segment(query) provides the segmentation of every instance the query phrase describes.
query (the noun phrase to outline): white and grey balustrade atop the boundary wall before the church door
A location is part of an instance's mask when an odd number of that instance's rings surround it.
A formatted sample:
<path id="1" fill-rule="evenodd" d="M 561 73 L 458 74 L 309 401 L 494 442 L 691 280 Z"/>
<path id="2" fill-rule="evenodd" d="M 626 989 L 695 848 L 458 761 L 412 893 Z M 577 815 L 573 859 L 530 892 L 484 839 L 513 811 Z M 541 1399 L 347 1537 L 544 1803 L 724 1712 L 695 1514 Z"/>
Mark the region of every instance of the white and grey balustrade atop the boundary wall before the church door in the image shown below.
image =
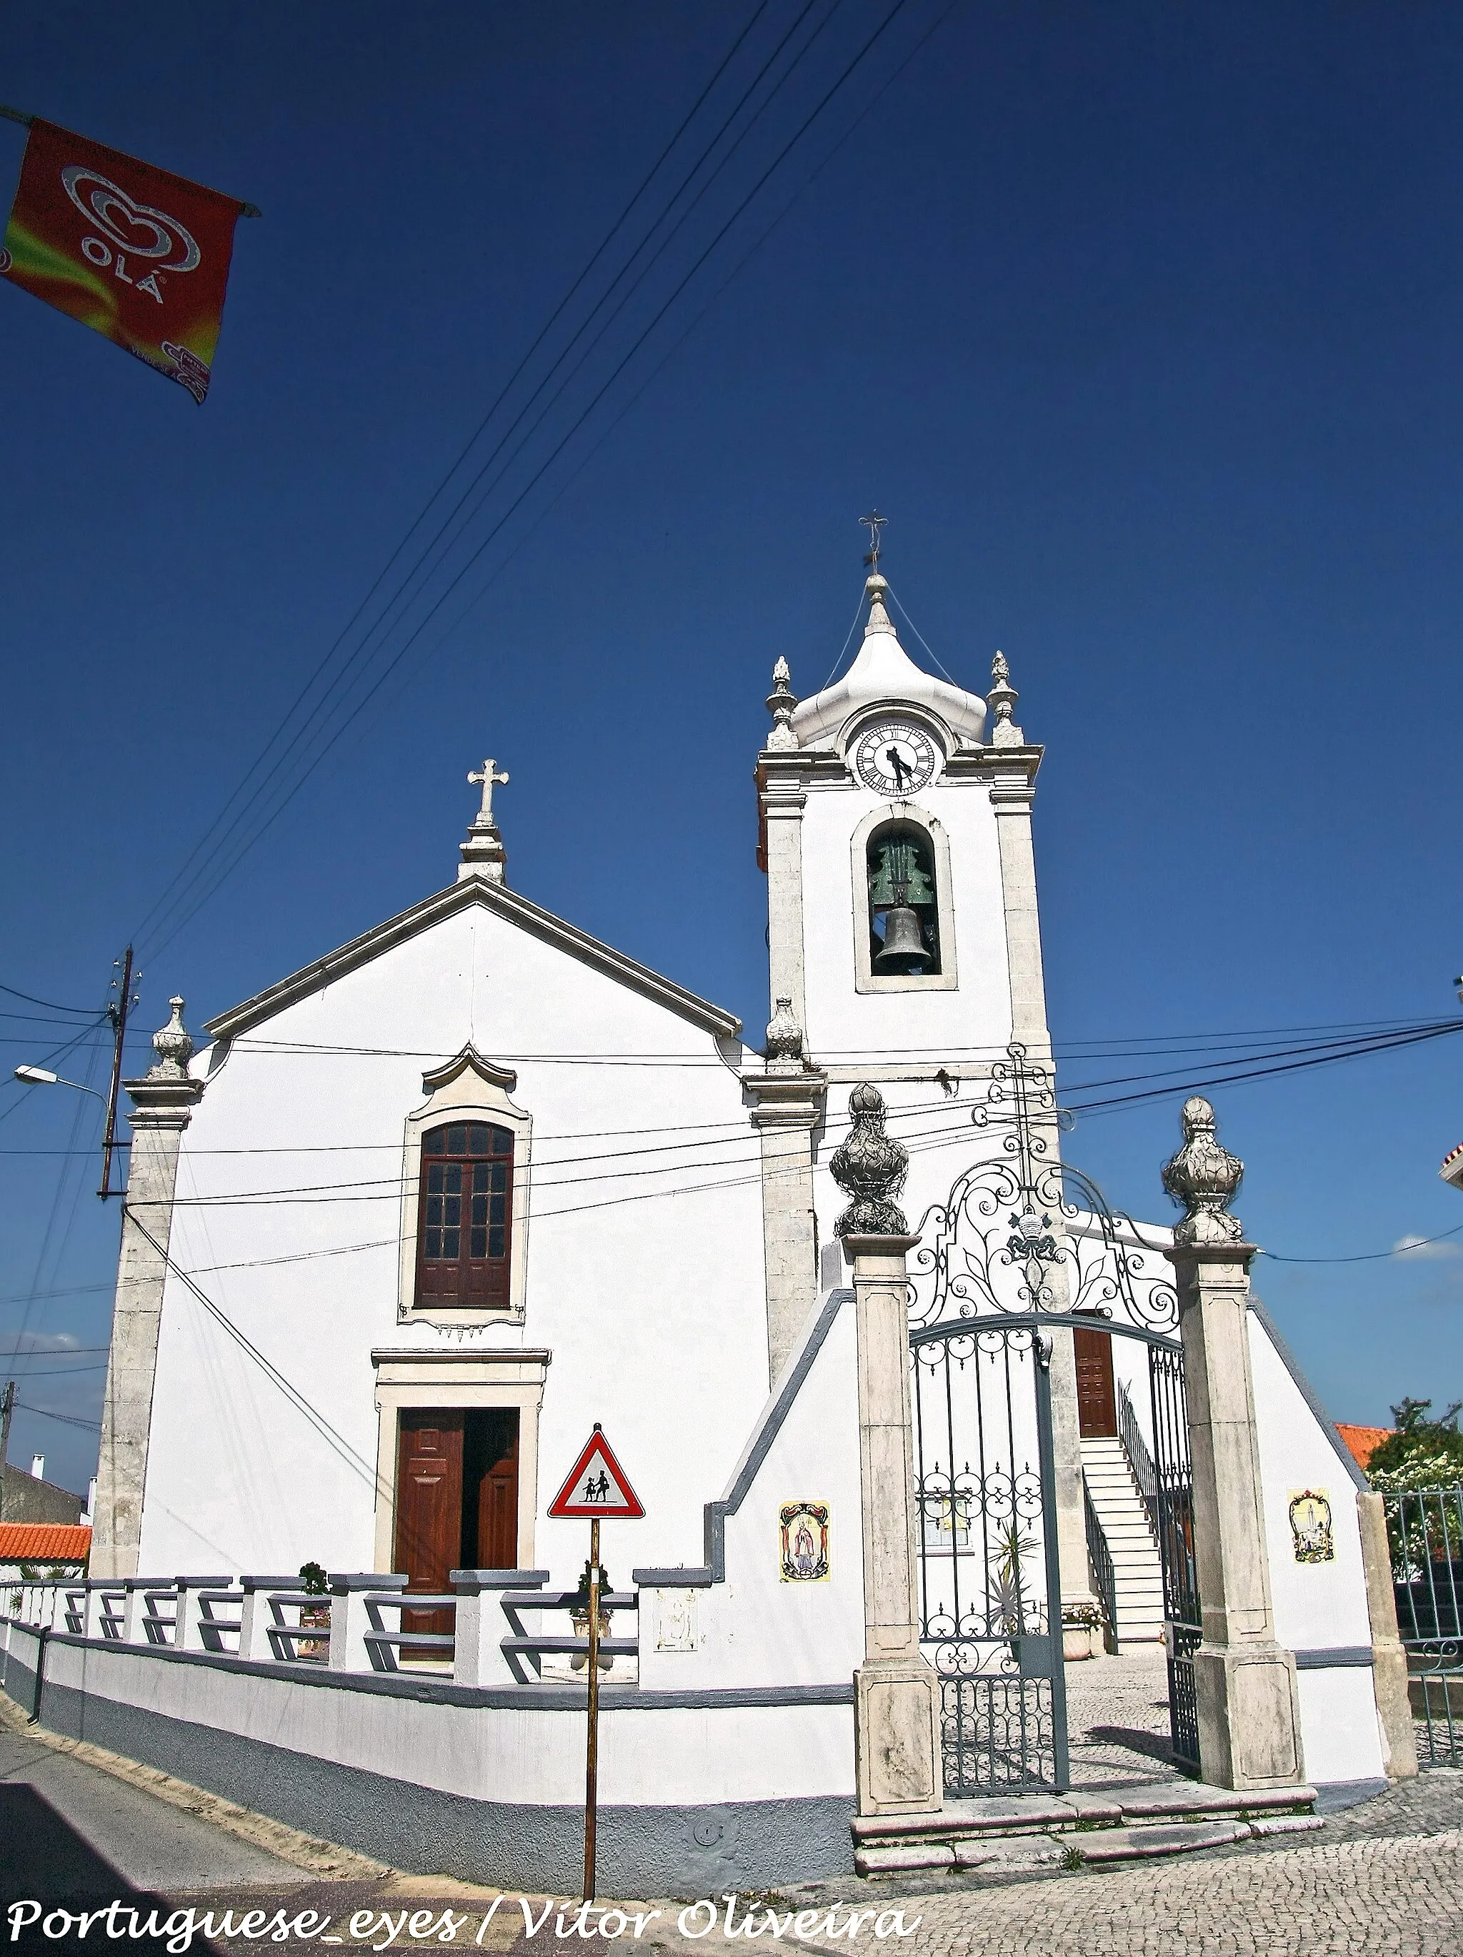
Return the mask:
<path id="1" fill-rule="evenodd" d="M 14 1585 L 0 1603 L 31 1628 L 143 1650 L 331 1671 L 428 1669 L 458 1685 L 583 1683 L 587 1626 L 565 1634 L 552 1615 L 583 1620 L 587 1599 L 546 1589 L 548 1577 L 548 1570 L 454 1570 L 452 1589 L 430 1595 L 379 1571 L 331 1575 L 329 1595 L 288 1575 L 82 1577 Z M 636 1613 L 638 1624 L 640 1593 L 606 1591 L 600 1611 Z M 600 1634 L 600 1667 L 632 1683 L 640 1636 L 616 1628 Z"/>

